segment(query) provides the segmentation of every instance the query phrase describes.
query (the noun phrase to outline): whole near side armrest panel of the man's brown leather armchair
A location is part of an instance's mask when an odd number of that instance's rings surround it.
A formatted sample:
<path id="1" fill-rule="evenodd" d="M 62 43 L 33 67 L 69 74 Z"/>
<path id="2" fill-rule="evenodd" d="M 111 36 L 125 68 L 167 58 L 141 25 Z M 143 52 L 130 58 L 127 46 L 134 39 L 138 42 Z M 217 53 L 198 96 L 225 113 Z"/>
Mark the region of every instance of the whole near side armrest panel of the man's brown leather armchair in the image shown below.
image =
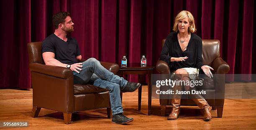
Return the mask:
<path id="1" fill-rule="evenodd" d="M 70 69 L 41 63 L 29 64 L 33 106 L 60 112 L 74 110 L 74 80 Z"/>

